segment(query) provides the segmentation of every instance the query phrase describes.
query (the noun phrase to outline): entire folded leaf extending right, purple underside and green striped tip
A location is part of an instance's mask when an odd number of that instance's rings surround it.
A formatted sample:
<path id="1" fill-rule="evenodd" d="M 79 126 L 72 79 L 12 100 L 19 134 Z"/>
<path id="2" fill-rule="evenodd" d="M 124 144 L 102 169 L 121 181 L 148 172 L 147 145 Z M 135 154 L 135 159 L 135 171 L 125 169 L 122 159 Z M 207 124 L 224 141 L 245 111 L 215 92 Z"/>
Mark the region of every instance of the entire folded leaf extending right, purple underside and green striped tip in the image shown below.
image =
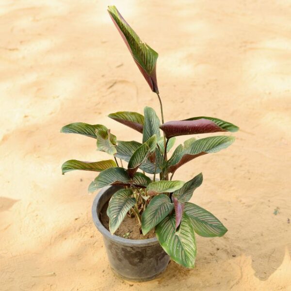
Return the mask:
<path id="1" fill-rule="evenodd" d="M 193 117 L 185 120 L 168 121 L 160 126 L 166 138 L 178 135 L 237 131 L 239 128 L 229 122 L 212 117 Z"/>

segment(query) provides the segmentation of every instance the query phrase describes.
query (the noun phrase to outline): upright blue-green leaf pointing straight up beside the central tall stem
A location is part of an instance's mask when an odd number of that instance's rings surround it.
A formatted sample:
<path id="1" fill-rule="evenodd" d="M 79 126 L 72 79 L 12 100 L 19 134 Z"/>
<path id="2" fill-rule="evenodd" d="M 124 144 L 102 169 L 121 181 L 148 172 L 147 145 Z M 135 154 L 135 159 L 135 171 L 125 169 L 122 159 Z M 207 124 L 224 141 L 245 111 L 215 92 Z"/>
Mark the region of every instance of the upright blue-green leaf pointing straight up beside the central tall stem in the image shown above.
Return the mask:
<path id="1" fill-rule="evenodd" d="M 157 140 L 160 138 L 160 119 L 157 116 L 156 112 L 151 107 L 145 107 L 145 124 L 143 132 L 143 143 L 145 143 L 153 135 L 157 136 Z"/>

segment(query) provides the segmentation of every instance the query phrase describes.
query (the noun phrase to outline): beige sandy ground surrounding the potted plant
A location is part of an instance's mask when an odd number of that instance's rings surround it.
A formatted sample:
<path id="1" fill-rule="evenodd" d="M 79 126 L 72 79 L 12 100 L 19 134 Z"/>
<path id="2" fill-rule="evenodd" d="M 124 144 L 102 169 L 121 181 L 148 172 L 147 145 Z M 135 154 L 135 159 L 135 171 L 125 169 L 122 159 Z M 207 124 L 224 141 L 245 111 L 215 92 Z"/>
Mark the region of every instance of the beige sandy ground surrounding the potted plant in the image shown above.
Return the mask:
<path id="1" fill-rule="evenodd" d="M 192 201 L 228 232 L 197 236 L 194 270 L 171 262 L 147 283 L 111 272 L 87 194 L 96 175 L 60 170 L 107 157 L 92 139 L 59 133 L 63 125 L 101 123 L 140 139 L 106 115 L 159 110 L 108 4 L 160 53 L 166 120 L 241 127 L 233 146 L 175 174 L 203 172 Z M 1 0 L 0 35 L 1 291 L 291 290 L 290 0 Z"/>

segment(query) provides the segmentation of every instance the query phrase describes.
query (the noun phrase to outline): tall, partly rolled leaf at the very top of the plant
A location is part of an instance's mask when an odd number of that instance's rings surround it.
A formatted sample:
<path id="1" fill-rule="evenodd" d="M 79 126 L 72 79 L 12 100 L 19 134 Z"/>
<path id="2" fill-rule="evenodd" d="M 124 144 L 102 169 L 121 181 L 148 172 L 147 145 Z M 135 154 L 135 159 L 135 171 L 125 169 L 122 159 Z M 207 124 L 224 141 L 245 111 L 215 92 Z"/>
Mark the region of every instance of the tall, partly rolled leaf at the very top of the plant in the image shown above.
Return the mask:
<path id="1" fill-rule="evenodd" d="M 149 87 L 159 93 L 156 77 L 158 53 L 139 38 L 115 6 L 108 6 L 108 12 Z"/>

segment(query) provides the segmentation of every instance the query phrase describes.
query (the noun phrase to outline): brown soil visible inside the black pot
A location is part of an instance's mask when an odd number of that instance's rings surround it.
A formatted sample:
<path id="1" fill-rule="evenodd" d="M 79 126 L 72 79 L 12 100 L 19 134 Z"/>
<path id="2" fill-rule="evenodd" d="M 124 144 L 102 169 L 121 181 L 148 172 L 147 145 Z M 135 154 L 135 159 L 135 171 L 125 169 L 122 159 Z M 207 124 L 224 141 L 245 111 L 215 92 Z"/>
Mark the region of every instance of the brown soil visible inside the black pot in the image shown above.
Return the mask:
<path id="1" fill-rule="evenodd" d="M 106 214 L 107 208 L 108 208 L 108 202 L 104 204 L 100 212 L 99 219 L 101 223 L 103 224 L 103 226 L 105 226 L 105 228 L 109 230 L 109 217 Z M 117 228 L 114 234 L 119 237 L 130 239 L 130 240 L 145 240 L 145 239 L 150 239 L 156 236 L 155 229 L 152 229 L 144 236 L 140 232 L 140 226 L 136 218 L 129 217 L 129 215 L 126 215 L 123 222 Z"/>

